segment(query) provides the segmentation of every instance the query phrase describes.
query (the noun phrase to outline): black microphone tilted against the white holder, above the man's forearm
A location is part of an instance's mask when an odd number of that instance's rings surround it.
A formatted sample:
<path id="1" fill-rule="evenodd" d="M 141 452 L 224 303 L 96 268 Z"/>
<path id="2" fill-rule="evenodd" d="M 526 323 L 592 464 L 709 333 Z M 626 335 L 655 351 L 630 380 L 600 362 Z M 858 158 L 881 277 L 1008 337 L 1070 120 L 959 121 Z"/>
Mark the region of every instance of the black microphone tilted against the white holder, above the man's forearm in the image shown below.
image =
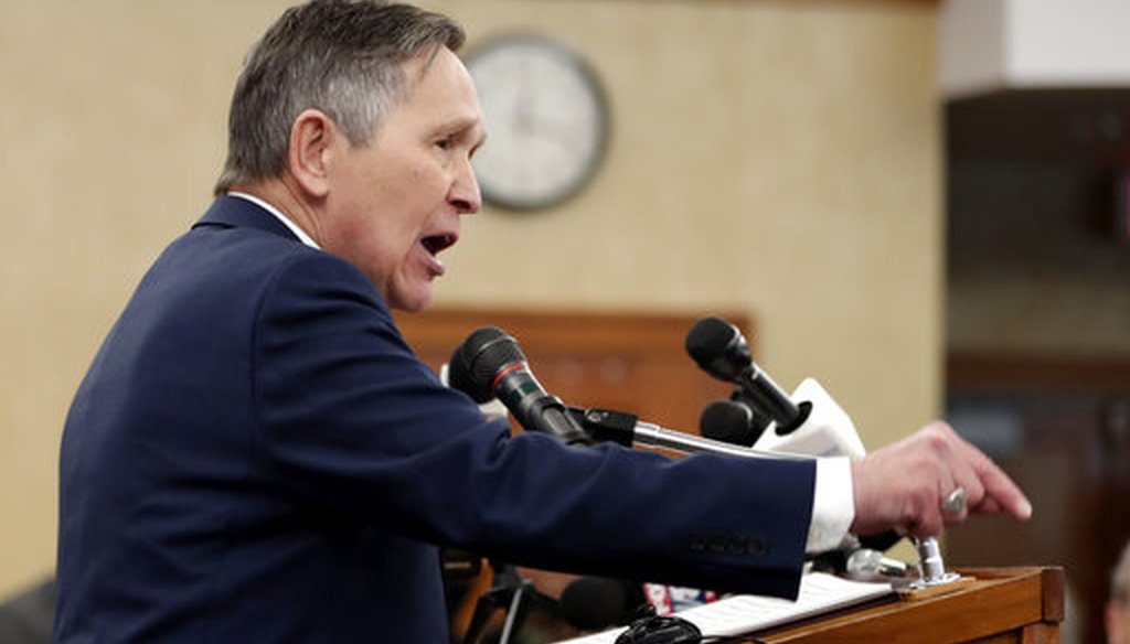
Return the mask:
<path id="1" fill-rule="evenodd" d="M 737 327 L 715 316 L 690 328 L 687 353 L 710 375 L 736 383 L 762 412 L 776 421 L 777 434 L 800 427 L 807 409 L 798 407 L 753 360 L 749 343 Z"/>

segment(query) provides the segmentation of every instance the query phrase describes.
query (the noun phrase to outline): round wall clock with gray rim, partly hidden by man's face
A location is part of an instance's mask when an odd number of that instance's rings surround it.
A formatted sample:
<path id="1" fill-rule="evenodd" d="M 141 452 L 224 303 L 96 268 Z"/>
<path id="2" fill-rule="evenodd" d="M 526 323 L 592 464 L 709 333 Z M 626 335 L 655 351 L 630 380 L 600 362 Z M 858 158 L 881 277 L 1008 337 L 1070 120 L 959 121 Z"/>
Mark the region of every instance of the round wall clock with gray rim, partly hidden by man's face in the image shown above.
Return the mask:
<path id="1" fill-rule="evenodd" d="M 467 55 L 487 142 L 475 156 L 483 198 L 547 208 L 592 179 L 605 157 L 608 106 L 591 69 L 560 43 L 507 36 Z"/>

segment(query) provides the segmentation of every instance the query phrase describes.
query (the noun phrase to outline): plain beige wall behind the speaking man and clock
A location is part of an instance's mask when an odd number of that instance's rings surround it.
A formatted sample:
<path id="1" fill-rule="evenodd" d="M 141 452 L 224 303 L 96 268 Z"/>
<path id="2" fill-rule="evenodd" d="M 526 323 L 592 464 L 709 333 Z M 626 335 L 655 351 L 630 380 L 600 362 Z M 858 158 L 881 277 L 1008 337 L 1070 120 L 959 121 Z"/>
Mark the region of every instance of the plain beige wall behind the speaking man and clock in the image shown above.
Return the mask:
<path id="1" fill-rule="evenodd" d="M 275 0 L 0 0 L 0 595 L 52 568 L 67 404 L 149 261 L 209 201 Z M 596 184 L 464 225 L 442 304 L 748 311 L 785 386 L 870 445 L 940 406 L 936 8 L 447 0 L 471 43 L 556 35 L 610 88 Z M 501 260 L 505 258 L 505 263 Z"/>

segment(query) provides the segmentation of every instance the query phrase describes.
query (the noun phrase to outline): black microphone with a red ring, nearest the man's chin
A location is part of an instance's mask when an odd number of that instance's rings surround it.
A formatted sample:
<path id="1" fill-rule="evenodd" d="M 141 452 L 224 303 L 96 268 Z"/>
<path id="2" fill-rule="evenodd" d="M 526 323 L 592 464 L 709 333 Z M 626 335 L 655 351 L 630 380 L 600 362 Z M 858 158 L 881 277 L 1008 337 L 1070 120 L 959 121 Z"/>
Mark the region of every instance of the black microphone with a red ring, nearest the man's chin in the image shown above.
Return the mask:
<path id="1" fill-rule="evenodd" d="M 475 330 L 451 356 L 451 386 L 475 402 L 498 398 L 518 423 L 532 432 L 549 434 L 567 445 L 588 443 L 560 399 L 549 395 L 533 377 L 518 341 L 497 327 Z"/>

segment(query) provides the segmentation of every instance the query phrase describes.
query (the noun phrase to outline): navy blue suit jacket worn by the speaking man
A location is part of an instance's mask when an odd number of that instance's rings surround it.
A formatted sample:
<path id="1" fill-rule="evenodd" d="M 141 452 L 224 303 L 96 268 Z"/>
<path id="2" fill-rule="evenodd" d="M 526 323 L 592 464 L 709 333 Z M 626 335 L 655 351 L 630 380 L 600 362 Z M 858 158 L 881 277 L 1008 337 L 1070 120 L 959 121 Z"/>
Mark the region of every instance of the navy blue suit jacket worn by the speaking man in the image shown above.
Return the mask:
<path id="1" fill-rule="evenodd" d="M 359 270 L 233 197 L 138 286 L 60 470 L 67 644 L 438 644 L 438 546 L 788 597 L 815 478 L 512 437 L 412 355 Z"/>

